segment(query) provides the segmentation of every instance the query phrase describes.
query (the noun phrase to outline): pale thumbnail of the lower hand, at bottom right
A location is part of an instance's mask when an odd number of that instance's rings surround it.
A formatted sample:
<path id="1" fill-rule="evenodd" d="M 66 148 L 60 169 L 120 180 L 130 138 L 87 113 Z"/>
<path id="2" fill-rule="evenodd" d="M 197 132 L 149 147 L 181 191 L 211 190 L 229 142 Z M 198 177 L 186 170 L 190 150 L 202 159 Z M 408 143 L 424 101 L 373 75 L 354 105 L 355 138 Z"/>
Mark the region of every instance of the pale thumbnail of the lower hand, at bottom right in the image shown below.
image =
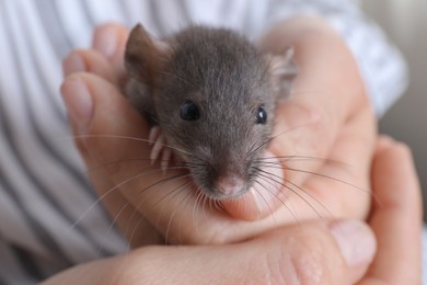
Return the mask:
<path id="1" fill-rule="evenodd" d="M 348 266 L 369 264 L 372 261 L 377 241 L 362 221 L 336 221 L 330 225 L 330 230 Z"/>

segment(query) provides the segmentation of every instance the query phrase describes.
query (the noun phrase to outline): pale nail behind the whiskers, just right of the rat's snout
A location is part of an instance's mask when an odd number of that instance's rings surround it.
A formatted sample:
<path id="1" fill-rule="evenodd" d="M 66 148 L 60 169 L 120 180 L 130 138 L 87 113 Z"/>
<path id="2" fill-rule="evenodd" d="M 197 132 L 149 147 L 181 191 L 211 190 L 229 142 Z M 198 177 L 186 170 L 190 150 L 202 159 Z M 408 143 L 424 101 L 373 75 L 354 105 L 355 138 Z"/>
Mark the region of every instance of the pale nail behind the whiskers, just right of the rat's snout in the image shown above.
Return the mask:
<path id="1" fill-rule="evenodd" d="M 282 201 L 284 171 L 279 159 L 269 151 L 265 151 L 261 160 L 263 161 L 262 173 L 250 193 L 253 195 L 258 213 L 265 213 L 275 208 L 273 204 L 277 201 Z"/>

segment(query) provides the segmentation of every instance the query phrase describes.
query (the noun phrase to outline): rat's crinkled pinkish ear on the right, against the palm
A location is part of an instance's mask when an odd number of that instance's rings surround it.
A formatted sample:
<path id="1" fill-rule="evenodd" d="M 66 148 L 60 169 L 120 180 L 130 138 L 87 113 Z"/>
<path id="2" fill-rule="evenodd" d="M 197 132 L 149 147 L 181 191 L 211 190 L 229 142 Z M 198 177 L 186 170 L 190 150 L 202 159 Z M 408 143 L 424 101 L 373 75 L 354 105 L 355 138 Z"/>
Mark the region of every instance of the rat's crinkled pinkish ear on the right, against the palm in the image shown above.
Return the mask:
<path id="1" fill-rule="evenodd" d="M 268 54 L 265 57 L 274 87 L 280 93 L 287 95 L 292 79 L 298 73 L 297 65 L 293 60 L 293 47 L 288 47 L 281 55 Z"/>

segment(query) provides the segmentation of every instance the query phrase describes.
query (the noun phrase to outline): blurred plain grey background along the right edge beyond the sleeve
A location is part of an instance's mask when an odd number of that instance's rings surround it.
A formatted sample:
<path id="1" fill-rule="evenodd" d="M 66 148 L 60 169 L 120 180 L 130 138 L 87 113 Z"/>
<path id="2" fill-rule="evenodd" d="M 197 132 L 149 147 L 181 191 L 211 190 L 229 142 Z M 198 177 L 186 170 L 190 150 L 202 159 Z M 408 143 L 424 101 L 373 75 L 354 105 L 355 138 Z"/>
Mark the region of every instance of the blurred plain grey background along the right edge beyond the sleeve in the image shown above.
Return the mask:
<path id="1" fill-rule="evenodd" d="M 409 67 L 409 87 L 381 118 L 380 132 L 412 148 L 424 190 L 424 205 L 427 205 L 427 1 L 361 2 L 367 14 L 382 26 L 402 50 Z M 424 220 L 427 220 L 427 213 Z"/>

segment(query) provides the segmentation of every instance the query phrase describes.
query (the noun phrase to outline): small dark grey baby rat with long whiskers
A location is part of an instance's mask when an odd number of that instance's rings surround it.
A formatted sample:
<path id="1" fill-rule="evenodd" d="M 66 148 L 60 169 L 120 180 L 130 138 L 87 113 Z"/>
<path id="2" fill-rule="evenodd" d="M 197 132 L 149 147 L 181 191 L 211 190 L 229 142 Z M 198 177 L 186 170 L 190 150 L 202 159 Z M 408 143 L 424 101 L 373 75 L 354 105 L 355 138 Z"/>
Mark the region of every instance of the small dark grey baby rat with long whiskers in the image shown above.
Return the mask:
<path id="1" fill-rule="evenodd" d="M 212 200 L 253 186 L 276 106 L 297 75 L 292 48 L 263 54 L 234 31 L 201 25 L 160 39 L 137 24 L 125 66 L 125 93 L 151 125 L 152 160 L 163 152 L 163 168 L 183 161 Z"/>

